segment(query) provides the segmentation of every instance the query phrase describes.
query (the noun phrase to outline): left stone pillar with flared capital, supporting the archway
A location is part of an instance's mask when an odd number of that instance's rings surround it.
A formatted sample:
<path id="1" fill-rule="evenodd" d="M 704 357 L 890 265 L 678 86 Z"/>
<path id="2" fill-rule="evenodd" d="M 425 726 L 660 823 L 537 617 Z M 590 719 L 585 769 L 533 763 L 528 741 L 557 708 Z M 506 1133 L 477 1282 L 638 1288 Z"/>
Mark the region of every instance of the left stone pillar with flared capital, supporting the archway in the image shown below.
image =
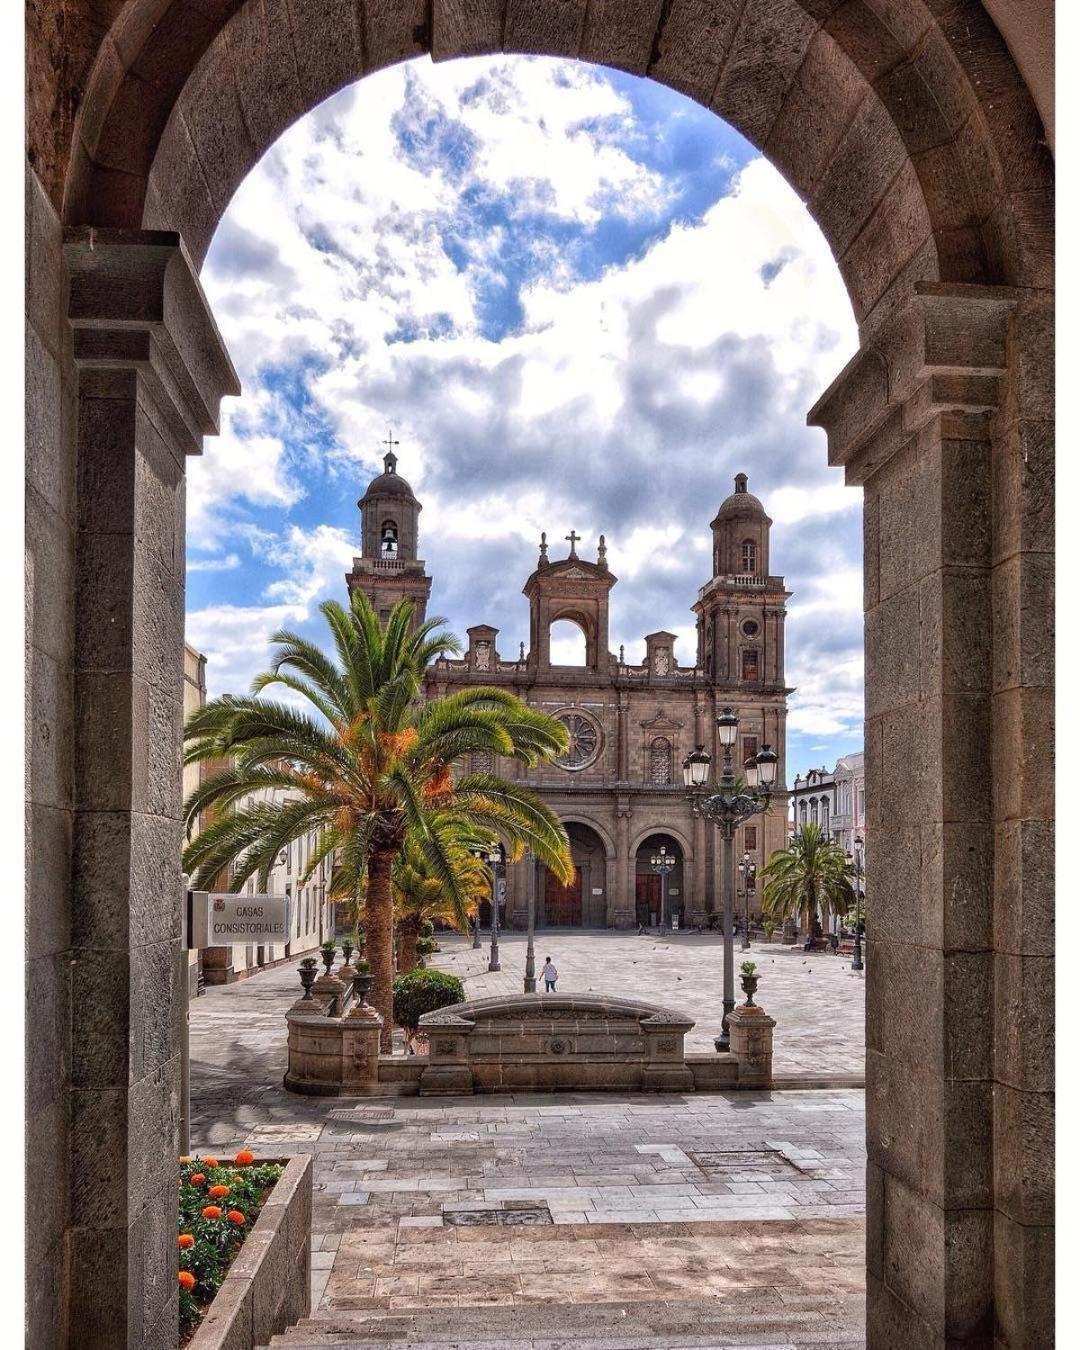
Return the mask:
<path id="1" fill-rule="evenodd" d="M 176 1345 L 184 460 L 239 393 L 180 236 L 65 236 L 78 371 L 70 1324 Z"/>

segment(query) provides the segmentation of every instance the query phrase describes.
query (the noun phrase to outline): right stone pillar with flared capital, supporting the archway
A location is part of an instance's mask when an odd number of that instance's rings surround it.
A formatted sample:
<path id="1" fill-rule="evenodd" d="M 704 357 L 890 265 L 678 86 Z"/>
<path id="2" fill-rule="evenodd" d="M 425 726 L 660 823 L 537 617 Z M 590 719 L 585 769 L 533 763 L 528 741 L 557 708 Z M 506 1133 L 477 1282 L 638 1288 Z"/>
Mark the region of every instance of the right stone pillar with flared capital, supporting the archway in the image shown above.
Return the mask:
<path id="1" fill-rule="evenodd" d="M 1014 298 L 923 285 L 810 414 L 829 433 L 830 462 L 864 487 L 872 1347 L 1000 1334 L 995 1223 L 1011 1222 L 1013 1179 L 1045 1174 L 1052 1158 L 1026 1152 L 1041 1122 L 1027 1134 L 1026 1103 L 1013 1118 L 1019 1099 L 994 1081 L 1004 1069 L 1041 1096 L 1052 1066 L 1049 980 L 1022 988 L 1013 957 L 994 952 L 995 873 L 1008 909 L 1021 886 L 1013 864 L 1031 882 L 1038 865 L 1010 852 L 1010 825 L 1030 805 L 1041 814 L 1053 782 L 1049 756 L 1031 755 L 1046 705 L 994 694 L 1027 617 L 1022 601 L 998 605 L 992 585 L 994 466 L 1007 455 L 992 417 Z M 1021 1008 L 1030 1018 L 1015 1019 Z M 995 1154 L 1011 1160 L 996 1183 Z M 999 1284 L 1023 1281 L 1017 1272 L 1040 1250 L 1037 1237 L 1030 1249 L 1017 1239 Z M 1029 1327 L 1008 1343 L 1046 1342 Z"/>

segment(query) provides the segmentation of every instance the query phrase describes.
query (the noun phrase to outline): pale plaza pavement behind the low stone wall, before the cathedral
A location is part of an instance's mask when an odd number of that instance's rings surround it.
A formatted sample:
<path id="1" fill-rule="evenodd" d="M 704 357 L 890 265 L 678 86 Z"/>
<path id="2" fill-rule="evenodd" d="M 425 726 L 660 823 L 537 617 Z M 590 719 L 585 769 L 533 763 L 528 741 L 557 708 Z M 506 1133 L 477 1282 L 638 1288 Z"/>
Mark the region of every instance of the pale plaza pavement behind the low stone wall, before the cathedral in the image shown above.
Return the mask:
<path id="1" fill-rule="evenodd" d="M 487 969 L 489 934 L 474 950 L 467 938 L 439 934 L 443 948 L 432 965 L 460 975 L 466 998 L 520 994 L 525 972 L 525 938 L 500 936 L 500 965 Z M 687 1050 L 711 1050 L 722 1017 L 722 940 L 711 933 L 634 933 L 547 930 L 536 938 L 536 971 L 551 956 L 559 971 L 559 992 L 621 994 L 659 1003 L 694 1018 Z M 755 942 L 738 950 L 736 938 L 736 998 L 741 1000 L 738 964 L 755 961 L 761 977 L 756 1002 L 776 1019 L 774 1071 L 779 1075 L 863 1076 L 864 981 L 846 956 L 807 954 L 779 944 Z M 543 983 L 540 984 L 543 990 Z"/>

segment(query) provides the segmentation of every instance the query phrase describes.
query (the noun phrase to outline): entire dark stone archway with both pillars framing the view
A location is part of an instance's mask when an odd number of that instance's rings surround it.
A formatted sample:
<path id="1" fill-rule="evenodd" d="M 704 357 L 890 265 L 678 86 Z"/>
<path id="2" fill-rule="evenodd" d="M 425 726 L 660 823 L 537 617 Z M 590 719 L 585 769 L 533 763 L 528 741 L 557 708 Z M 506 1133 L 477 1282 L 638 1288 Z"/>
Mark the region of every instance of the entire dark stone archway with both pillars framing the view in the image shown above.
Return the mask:
<path id="1" fill-rule="evenodd" d="M 31 756 L 28 871 L 35 1025 L 51 1030 L 28 1061 L 45 1061 L 28 1143 L 72 1160 L 70 1180 L 28 1184 L 34 1343 L 70 1324 L 84 1345 L 150 1346 L 174 1318 L 184 456 L 236 387 L 197 266 L 235 186 L 320 99 L 425 51 L 497 50 L 620 66 L 713 108 L 834 251 L 863 346 L 811 420 L 865 494 L 868 1331 L 1046 1343 L 1052 163 L 986 9 L 93 14 L 111 27 L 65 7 L 70 54 L 31 82 L 27 684 L 50 736 Z M 65 243 L 61 221 L 82 228 Z M 127 1204 L 103 1211 L 89 1177 Z"/>

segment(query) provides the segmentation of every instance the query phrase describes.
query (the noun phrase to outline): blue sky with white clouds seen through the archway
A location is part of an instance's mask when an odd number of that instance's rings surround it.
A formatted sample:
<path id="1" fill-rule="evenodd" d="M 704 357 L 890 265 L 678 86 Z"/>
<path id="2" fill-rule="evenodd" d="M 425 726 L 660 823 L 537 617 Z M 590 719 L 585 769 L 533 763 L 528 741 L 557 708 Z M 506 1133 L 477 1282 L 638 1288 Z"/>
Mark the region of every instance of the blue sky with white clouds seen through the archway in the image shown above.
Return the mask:
<path id="1" fill-rule="evenodd" d="M 690 664 L 709 520 L 748 473 L 794 591 L 790 774 L 860 745 L 861 493 L 805 425 L 855 323 L 796 196 L 716 116 L 548 58 L 394 66 L 277 142 L 202 279 L 244 389 L 190 468 L 212 693 L 279 624 L 321 636 L 392 425 L 432 609 L 506 656 L 540 531 L 572 526 L 585 556 L 608 539 L 613 648 L 668 628 Z"/>

